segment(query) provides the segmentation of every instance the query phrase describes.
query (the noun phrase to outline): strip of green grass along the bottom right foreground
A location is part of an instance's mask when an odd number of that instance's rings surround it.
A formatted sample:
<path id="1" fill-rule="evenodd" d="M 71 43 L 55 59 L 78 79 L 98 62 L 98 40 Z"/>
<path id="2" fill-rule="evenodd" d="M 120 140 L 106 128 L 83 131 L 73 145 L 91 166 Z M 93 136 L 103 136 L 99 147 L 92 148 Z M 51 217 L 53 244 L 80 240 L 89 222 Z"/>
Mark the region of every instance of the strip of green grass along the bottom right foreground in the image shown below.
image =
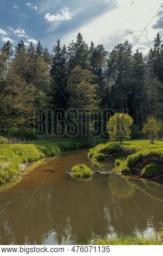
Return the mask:
<path id="1" fill-rule="evenodd" d="M 91 245 L 163 245 L 162 237 L 155 235 L 151 238 L 120 235 L 106 239 L 97 239 Z"/>

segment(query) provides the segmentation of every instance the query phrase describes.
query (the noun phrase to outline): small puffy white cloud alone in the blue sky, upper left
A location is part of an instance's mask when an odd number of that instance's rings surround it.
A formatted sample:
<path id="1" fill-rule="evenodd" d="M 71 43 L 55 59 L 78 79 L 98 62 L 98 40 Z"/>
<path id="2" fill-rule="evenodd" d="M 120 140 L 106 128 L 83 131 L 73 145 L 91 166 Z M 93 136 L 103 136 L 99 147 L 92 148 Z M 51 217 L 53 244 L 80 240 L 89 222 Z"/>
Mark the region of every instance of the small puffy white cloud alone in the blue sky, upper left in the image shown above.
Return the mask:
<path id="1" fill-rule="evenodd" d="M 69 9 L 65 7 L 64 9 L 61 10 L 60 14 L 51 15 L 47 13 L 45 15 L 45 19 L 47 21 L 64 21 L 64 20 L 71 20 L 72 17 L 70 15 Z"/>

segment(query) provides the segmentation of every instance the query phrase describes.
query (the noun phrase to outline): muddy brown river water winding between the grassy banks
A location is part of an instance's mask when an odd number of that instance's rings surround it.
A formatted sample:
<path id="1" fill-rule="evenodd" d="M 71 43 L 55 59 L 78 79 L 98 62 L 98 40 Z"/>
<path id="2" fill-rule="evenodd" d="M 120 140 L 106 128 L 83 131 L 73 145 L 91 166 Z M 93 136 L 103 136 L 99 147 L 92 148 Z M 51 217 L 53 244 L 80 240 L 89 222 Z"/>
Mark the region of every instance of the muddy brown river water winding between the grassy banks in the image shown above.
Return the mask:
<path id="1" fill-rule="evenodd" d="M 121 233 L 152 236 L 160 229 L 163 186 L 115 174 L 72 180 L 65 172 L 78 163 L 112 170 L 112 163 L 91 162 L 87 151 L 34 162 L 0 187 L 1 244 L 81 244 Z"/>

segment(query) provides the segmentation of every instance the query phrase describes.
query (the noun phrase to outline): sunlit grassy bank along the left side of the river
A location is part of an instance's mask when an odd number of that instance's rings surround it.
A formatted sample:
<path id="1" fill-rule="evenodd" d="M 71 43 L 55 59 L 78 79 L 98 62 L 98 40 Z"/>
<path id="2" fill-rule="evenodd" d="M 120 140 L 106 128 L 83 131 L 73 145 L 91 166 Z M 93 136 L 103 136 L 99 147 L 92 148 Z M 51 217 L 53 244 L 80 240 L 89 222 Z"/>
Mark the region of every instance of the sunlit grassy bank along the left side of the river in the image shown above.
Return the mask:
<path id="1" fill-rule="evenodd" d="M 57 156 L 62 150 L 79 149 L 86 145 L 86 141 L 77 139 L 42 139 L 26 144 L 0 145 L 0 184 L 20 175 L 23 163 Z"/>

